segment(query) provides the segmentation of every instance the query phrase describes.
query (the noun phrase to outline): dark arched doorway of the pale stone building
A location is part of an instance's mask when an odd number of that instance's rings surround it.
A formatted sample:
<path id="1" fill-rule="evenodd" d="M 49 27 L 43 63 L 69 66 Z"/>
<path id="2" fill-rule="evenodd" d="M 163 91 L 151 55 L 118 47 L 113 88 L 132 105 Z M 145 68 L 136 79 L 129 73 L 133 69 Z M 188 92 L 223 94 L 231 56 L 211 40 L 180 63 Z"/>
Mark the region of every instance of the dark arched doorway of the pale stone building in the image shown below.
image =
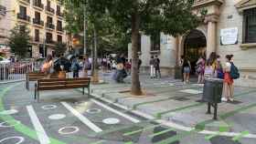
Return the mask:
<path id="1" fill-rule="evenodd" d="M 192 74 L 195 74 L 195 67 L 197 59 L 200 56 L 206 55 L 207 38 L 199 30 L 191 30 L 184 41 L 184 56 L 187 57 L 191 63 Z"/>

